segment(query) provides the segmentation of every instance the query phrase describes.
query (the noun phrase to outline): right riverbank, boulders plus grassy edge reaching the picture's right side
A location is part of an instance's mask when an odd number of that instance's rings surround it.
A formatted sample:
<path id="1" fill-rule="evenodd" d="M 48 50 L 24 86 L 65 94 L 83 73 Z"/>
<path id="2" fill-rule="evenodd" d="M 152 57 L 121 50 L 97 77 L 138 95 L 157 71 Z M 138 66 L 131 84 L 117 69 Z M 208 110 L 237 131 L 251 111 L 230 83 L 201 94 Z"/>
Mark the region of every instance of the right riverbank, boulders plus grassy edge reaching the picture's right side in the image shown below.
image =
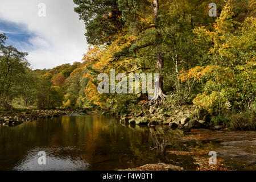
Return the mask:
<path id="1" fill-rule="evenodd" d="M 253 111 L 230 115 L 212 115 L 205 109 L 193 105 L 165 105 L 143 107 L 142 111 L 134 111 L 120 116 L 120 123 L 125 125 L 168 126 L 171 129 L 191 131 L 191 129 L 211 130 L 255 130 L 256 116 Z"/>

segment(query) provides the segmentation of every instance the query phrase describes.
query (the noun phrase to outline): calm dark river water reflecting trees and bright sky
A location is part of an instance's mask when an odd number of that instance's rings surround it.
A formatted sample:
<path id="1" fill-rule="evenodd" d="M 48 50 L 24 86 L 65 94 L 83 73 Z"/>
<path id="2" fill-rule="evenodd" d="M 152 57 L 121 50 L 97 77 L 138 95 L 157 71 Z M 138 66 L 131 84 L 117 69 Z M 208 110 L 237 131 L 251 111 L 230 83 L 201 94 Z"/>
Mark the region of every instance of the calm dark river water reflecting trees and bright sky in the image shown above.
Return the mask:
<path id="1" fill-rule="evenodd" d="M 0 170 L 113 170 L 160 162 L 195 168 L 190 157 L 165 152 L 182 146 L 164 136 L 160 127 L 123 126 L 101 115 L 0 126 Z M 39 151 L 46 152 L 46 165 L 38 164 Z"/>

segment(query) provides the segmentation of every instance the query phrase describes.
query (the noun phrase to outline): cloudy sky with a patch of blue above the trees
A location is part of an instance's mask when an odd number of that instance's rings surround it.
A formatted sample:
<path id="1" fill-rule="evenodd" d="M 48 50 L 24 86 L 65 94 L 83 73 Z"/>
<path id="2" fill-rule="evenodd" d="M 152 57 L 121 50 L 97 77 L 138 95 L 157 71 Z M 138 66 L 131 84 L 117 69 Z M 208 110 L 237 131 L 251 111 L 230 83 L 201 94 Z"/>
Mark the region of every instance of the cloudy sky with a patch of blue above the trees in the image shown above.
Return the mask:
<path id="1" fill-rule="evenodd" d="M 88 44 L 73 0 L 0 0 L 0 4 L 0 33 L 7 35 L 7 45 L 28 52 L 32 69 L 81 61 Z"/>

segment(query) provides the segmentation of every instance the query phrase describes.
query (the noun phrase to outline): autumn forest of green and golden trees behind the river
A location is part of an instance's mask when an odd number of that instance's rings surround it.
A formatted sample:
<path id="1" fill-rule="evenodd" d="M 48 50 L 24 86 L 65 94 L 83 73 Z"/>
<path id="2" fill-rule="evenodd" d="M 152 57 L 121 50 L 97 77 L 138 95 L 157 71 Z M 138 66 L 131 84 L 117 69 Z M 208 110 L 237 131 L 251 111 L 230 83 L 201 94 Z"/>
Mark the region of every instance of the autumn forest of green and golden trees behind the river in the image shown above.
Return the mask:
<path id="1" fill-rule="evenodd" d="M 189 119 L 205 111 L 211 125 L 255 130 L 255 0 L 74 2 L 90 46 L 72 65 L 32 70 L 28 53 L 6 46 L 0 34 L 2 111 L 84 109 L 131 118 L 149 112 L 159 121 L 186 107 Z M 110 69 L 159 73 L 158 97 L 99 93 L 97 77 Z"/>

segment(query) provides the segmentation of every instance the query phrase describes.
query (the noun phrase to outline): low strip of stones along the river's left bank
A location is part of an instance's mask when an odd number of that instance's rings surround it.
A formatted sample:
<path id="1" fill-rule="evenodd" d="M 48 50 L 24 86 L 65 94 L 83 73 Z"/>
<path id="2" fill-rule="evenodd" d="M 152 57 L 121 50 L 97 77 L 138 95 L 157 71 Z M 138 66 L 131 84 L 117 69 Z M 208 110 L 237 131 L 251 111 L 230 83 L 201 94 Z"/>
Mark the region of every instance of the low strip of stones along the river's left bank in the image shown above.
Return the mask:
<path id="1" fill-rule="evenodd" d="M 34 121 L 42 118 L 54 118 L 61 115 L 77 113 L 76 110 L 27 110 L 27 111 L 3 111 L 0 113 L 0 124 L 16 126 L 27 121 Z"/>

